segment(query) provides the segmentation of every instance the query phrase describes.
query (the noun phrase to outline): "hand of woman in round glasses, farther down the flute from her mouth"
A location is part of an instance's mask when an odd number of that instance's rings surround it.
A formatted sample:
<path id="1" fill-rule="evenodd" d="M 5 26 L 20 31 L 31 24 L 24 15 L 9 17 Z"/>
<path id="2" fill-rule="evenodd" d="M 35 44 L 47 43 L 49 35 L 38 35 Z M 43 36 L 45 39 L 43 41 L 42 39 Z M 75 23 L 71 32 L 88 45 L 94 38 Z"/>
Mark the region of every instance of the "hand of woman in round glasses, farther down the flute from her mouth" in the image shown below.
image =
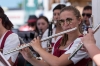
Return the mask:
<path id="1" fill-rule="evenodd" d="M 33 54 L 29 48 L 24 48 L 24 49 L 20 50 L 20 53 L 26 60 L 30 60 L 33 57 Z"/>

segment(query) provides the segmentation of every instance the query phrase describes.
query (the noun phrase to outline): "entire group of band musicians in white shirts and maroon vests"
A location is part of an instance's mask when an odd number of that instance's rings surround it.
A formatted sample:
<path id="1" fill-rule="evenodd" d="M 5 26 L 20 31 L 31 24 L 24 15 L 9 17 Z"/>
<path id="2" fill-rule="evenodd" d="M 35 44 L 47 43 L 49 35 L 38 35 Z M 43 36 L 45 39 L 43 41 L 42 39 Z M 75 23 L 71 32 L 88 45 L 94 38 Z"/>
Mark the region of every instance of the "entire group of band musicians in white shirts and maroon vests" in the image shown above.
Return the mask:
<path id="1" fill-rule="evenodd" d="M 54 7 L 52 23 L 49 22 L 48 18 L 45 16 L 36 17 L 31 15 L 28 19 L 27 26 L 28 31 L 35 32 L 35 36 L 30 41 L 30 45 L 31 48 L 39 54 L 41 59 L 37 59 L 28 47 L 4 55 L 4 57 L 12 66 L 17 66 L 16 60 L 19 52 L 22 54 L 23 58 L 33 66 L 92 66 L 92 64 L 90 64 L 92 61 L 99 66 L 100 50 L 96 46 L 96 40 L 93 35 L 94 32 L 89 28 L 91 25 L 89 21 L 91 15 L 91 6 L 85 6 L 81 15 L 77 8 L 64 4 L 58 4 Z M 52 27 L 52 25 L 54 25 L 54 27 Z M 40 41 L 45 37 L 74 27 L 77 29 L 56 36 L 50 40 Z M 3 54 L 11 48 L 20 46 L 19 36 L 11 31 L 12 28 L 13 24 L 4 13 L 2 7 L 0 7 L 0 51 Z M 19 30 L 21 31 L 21 28 Z M 84 35 L 84 31 L 88 31 L 88 33 Z M 77 54 L 69 60 L 68 58 L 80 42 L 83 43 L 82 49 L 84 50 L 80 49 Z M 48 47 L 48 44 L 51 46 Z"/>

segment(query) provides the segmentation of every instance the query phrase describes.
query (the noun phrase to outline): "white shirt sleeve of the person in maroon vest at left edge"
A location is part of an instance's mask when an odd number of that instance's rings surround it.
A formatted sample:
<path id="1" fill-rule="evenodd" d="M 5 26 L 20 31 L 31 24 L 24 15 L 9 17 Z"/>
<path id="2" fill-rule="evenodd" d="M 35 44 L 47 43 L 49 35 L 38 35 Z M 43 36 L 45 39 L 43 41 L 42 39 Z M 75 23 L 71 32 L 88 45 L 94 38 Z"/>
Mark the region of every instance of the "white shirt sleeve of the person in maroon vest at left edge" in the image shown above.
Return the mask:
<path id="1" fill-rule="evenodd" d="M 15 34 L 15 33 L 10 34 L 5 41 L 5 45 L 4 45 L 4 48 L 3 48 L 3 54 L 12 50 L 12 49 L 15 49 L 19 45 L 20 45 L 20 41 L 19 41 L 18 35 Z M 18 53 L 19 53 L 18 51 L 13 52 L 13 53 L 4 55 L 4 57 L 7 60 L 11 57 L 12 62 L 15 62 L 15 60 L 18 56 Z"/>

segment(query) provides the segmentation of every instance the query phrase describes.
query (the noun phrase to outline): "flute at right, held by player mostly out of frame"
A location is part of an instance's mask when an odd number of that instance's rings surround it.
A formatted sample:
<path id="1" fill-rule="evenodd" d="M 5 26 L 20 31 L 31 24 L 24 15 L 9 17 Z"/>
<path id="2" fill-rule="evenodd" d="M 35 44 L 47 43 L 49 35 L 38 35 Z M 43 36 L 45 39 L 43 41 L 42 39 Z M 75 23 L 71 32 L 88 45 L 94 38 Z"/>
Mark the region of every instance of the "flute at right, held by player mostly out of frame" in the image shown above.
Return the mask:
<path id="1" fill-rule="evenodd" d="M 99 29 L 100 24 L 98 24 L 95 28 L 93 28 L 93 34 Z M 78 47 L 73 51 L 73 53 L 68 57 L 68 59 L 70 60 L 83 46 L 83 43 L 80 42 Z"/>

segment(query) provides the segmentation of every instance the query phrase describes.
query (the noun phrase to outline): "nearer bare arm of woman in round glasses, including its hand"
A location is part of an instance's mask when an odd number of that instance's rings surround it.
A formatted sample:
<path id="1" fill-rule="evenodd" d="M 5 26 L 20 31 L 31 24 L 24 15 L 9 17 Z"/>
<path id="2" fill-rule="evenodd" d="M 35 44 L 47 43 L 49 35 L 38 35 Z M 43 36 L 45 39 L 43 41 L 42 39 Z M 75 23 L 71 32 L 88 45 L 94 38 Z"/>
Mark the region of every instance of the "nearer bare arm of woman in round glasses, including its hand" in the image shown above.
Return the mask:
<path id="1" fill-rule="evenodd" d="M 71 60 L 68 60 L 68 57 L 70 54 L 63 54 L 61 57 L 56 57 L 54 55 L 51 55 L 50 53 L 46 52 L 40 45 L 39 38 L 35 38 L 32 41 L 31 46 L 34 48 L 35 51 L 37 51 L 40 56 L 51 66 L 64 66 L 69 65 L 72 63 Z"/>

